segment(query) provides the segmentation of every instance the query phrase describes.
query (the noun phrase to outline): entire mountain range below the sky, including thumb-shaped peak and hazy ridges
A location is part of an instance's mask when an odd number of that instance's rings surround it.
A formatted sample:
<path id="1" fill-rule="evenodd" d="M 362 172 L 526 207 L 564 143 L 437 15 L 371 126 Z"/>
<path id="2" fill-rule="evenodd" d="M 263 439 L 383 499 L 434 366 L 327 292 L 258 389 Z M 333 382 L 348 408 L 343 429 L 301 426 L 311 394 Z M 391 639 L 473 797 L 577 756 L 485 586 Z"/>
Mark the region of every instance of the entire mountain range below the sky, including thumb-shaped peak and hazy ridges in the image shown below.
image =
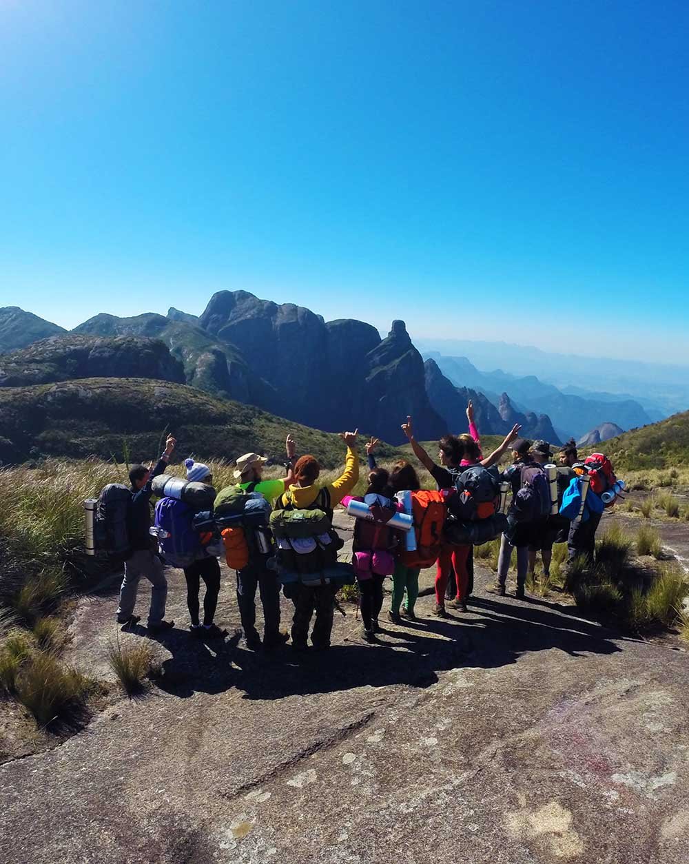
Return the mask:
<path id="1" fill-rule="evenodd" d="M 527 437 L 554 444 L 602 422 L 624 429 L 651 421 L 634 400 L 604 402 L 533 376 L 479 372 L 460 357 L 433 353 L 424 362 L 403 321 L 381 339 L 363 321 L 326 322 L 246 291 L 218 292 L 200 316 L 176 308 L 104 313 L 69 333 L 20 308 L 0 308 L 0 387 L 87 378 L 184 383 L 314 429 L 358 423 L 392 444 L 404 442 L 407 415 L 423 440 L 465 431 L 469 398 L 483 434 L 504 435 L 520 422 Z"/>

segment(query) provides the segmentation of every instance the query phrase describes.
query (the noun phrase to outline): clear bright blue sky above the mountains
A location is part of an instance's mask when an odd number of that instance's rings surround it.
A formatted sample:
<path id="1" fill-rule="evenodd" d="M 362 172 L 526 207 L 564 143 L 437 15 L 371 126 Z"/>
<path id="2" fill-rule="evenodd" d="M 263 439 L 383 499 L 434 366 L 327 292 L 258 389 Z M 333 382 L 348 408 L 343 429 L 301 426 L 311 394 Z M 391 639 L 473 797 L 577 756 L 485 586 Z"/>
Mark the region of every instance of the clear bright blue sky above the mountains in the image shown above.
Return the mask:
<path id="1" fill-rule="evenodd" d="M 688 25 L 662 0 L 2 0 L 0 304 L 72 327 L 242 288 L 689 363 Z"/>

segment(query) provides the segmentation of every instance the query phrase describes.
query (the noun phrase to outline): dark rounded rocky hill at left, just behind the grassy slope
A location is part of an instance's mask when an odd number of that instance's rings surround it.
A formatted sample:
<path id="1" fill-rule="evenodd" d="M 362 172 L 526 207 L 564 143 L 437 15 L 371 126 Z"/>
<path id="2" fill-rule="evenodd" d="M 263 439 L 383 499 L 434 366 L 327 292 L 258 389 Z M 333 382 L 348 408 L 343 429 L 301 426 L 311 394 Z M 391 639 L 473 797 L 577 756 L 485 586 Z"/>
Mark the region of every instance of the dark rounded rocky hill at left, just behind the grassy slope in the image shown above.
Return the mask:
<path id="1" fill-rule="evenodd" d="M 183 383 L 184 368 L 162 341 L 144 336 L 66 334 L 0 356 L 0 387 L 78 378 L 159 378 Z"/>

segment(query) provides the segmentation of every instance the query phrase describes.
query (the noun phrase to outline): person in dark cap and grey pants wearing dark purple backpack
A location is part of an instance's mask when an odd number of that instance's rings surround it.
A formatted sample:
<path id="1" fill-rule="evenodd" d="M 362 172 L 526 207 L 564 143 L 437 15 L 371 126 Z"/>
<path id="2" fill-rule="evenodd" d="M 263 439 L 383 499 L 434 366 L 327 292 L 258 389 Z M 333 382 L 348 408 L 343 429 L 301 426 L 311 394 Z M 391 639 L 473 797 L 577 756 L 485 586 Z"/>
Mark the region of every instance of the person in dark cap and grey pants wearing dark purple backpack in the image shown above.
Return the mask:
<path id="1" fill-rule="evenodd" d="M 498 557 L 497 580 L 491 594 L 504 597 L 507 593 L 507 571 L 512 553 L 517 550 L 517 588 L 519 600 L 526 598 L 526 575 L 529 566 L 529 545 L 544 528 L 550 513 L 550 488 L 547 476 L 530 453 L 532 442 L 518 438 L 511 445 L 513 464 L 502 473 L 502 479 L 512 487 L 512 502 L 507 511 L 508 527 L 503 531 Z"/>

